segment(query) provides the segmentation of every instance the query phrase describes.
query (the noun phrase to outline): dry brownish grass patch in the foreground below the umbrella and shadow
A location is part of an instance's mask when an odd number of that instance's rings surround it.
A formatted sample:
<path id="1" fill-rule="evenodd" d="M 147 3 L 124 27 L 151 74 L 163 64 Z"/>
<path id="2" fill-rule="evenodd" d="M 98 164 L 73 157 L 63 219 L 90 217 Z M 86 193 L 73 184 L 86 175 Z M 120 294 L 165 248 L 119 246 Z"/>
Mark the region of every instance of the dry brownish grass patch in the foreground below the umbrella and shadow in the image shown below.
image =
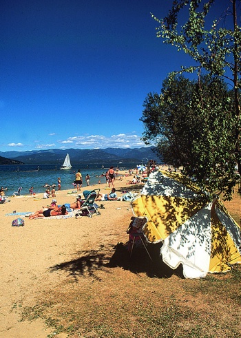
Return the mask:
<path id="1" fill-rule="evenodd" d="M 23 319 L 41 317 L 53 329 L 49 337 L 238 338 L 240 273 L 237 266 L 205 279 L 127 279 L 129 272 L 116 268 L 106 281 L 79 278 L 43 293 Z"/>

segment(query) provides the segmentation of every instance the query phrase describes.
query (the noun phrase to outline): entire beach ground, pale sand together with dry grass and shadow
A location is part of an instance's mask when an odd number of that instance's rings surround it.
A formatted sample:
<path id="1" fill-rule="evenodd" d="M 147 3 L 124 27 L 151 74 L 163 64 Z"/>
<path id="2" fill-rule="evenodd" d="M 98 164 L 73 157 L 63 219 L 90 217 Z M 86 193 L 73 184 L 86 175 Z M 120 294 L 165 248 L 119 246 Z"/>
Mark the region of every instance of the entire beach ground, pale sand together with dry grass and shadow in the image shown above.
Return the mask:
<path id="1" fill-rule="evenodd" d="M 134 174 L 120 174 L 123 180 L 117 176 L 114 182 L 118 197 L 128 190 L 139 194 L 143 184 L 127 184 Z M 90 189 L 109 191 L 106 184 Z M 71 203 L 77 195 L 57 191 L 56 200 Z M 161 337 L 160 319 L 167 325 L 165 337 L 196 337 L 198 327 L 204 328 L 200 337 L 239 337 L 240 279 L 230 273 L 184 279 L 181 268 L 173 271 L 158 260 L 158 245 L 149 248 L 155 262 L 145 250 L 135 250 L 130 259 L 129 202 L 98 202 L 105 209 L 92 218 L 30 220 L 18 213 L 34 212 L 52 199 L 41 193 L 8 200 L 0 204 L 0 338 Z M 240 219 L 240 199 L 225 204 Z M 16 218 L 25 225 L 12 226 Z M 213 318 L 217 327 L 210 325 Z"/>

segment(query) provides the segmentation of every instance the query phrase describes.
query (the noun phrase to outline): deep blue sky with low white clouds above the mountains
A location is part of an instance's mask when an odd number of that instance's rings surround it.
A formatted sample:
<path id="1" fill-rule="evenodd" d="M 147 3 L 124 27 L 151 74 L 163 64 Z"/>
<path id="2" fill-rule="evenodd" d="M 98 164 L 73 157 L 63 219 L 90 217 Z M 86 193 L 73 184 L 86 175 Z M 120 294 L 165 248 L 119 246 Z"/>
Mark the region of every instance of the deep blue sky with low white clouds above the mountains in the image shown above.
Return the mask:
<path id="1" fill-rule="evenodd" d="M 147 94 L 190 64 L 156 38 L 171 3 L 1 0 L 0 150 L 145 146 Z"/>

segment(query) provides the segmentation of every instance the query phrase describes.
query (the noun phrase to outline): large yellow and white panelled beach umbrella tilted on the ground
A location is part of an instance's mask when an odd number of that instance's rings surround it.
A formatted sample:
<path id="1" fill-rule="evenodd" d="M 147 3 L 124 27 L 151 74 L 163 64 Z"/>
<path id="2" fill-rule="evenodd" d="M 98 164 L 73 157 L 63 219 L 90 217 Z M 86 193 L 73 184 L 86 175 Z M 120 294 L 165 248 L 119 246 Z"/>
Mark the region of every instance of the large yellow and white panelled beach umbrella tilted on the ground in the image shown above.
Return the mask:
<path id="1" fill-rule="evenodd" d="M 222 202 L 209 202 L 207 194 L 178 173 L 151 173 L 132 209 L 137 217 L 148 218 L 143 228 L 147 240 L 163 242 L 163 262 L 173 269 L 182 264 L 187 278 L 226 272 L 241 263 L 240 226 Z"/>

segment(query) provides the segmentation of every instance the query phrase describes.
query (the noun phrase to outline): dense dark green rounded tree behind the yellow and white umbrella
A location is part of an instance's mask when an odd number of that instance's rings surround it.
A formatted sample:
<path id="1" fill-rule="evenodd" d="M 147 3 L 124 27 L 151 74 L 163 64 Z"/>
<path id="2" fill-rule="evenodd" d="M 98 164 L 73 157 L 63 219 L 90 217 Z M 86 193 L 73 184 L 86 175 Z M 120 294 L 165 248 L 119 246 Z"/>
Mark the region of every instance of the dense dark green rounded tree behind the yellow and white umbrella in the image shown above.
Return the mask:
<path id="1" fill-rule="evenodd" d="M 233 93 L 218 76 L 189 81 L 169 76 L 160 95 L 148 94 L 140 120 L 143 140 L 155 142 L 158 154 L 213 194 L 230 199 L 237 175 Z"/>

